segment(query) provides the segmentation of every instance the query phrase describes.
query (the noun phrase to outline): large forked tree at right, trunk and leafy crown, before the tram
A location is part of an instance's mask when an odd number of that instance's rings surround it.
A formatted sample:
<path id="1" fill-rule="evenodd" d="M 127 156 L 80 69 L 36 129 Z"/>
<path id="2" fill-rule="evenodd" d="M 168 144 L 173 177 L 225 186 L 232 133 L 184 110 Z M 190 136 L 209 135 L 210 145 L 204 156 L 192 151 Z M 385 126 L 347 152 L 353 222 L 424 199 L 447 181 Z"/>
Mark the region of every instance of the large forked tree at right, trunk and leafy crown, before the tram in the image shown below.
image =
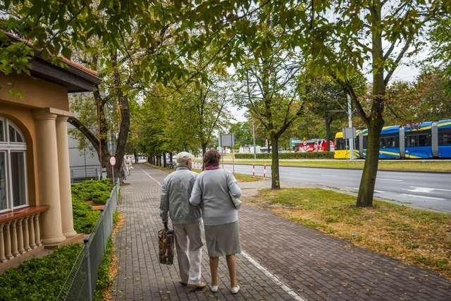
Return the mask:
<path id="1" fill-rule="evenodd" d="M 309 46 L 304 44 L 311 53 L 311 68 L 335 78 L 350 94 L 369 129 L 358 207 L 373 204 L 386 87 L 402 59 L 419 51 L 419 36 L 429 11 L 431 4 L 422 0 L 321 1 L 311 7 L 309 26 L 304 30 L 312 38 Z M 358 96 L 350 80 L 364 66 L 369 66 L 372 75 L 368 99 Z M 364 102 L 369 102 L 369 109 L 364 109 Z"/>

